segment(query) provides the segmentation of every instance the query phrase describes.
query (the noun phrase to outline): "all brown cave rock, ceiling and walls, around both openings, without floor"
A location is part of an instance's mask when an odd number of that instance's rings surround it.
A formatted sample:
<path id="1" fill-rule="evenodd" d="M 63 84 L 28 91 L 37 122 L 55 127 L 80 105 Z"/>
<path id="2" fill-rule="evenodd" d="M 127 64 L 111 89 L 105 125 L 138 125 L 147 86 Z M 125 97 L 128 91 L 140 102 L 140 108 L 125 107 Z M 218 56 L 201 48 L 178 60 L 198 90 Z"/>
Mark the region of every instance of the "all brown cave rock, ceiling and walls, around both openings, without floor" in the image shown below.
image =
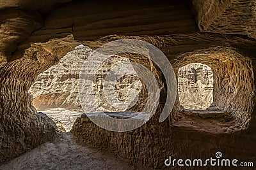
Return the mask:
<path id="1" fill-rule="evenodd" d="M 128 132 L 106 131 L 83 115 L 71 130 L 77 140 L 160 169 L 169 155 L 206 158 L 221 151 L 256 161 L 255 0 L 0 0 L 0 20 L 1 164 L 56 138 L 56 125 L 36 113 L 28 94 L 38 74 L 78 45 L 95 50 L 127 38 L 159 48 L 176 78 L 191 63 L 211 67 L 211 106 L 186 110 L 177 95 L 172 112 L 159 122 L 167 95 L 163 74 L 140 55 L 124 53 L 163 85 L 156 114 Z"/>

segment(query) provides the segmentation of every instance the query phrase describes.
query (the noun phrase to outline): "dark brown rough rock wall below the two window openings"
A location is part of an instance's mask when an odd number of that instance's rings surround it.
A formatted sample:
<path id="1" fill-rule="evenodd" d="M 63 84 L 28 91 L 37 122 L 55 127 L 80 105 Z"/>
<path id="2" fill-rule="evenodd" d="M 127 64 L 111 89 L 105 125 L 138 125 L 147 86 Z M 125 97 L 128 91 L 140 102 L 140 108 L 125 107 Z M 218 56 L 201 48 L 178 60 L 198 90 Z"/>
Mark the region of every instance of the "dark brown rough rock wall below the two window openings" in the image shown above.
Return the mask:
<path id="1" fill-rule="evenodd" d="M 191 119 L 177 122 L 172 127 L 167 124 L 148 122 L 134 131 L 111 132 L 93 124 L 83 115 L 77 118 L 71 132 L 83 143 L 157 169 L 172 167 L 164 166 L 164 160 L 170 155 L 172 160 L 198 158 L 206 160 L 210 157 L 215 158 L 215 153 L 221 152 L 225 158 L 236 158 L 244 162 L 255 161 L 255 143 L 248 143 L 248 140 L 256 139 L 254 132 L 223 134 L 223 131 L 227 131 L 229 124 L 219 125 L 218 120 L 198 119 L 196 121 L 195 117 Z M 196 124 L 200 126 L 196 127 Z M 207 132 L 201 131 L 203 128 L 207 129 Z M 214 131 L 210 132 L 209 129 Z M 172 168 L 184 167 L 176 164 Z M 202 167 L 193 167 L 193 169 L 202 169 Z M 230 169 L 230 167 L 207 166 L 203 169 Z"/>

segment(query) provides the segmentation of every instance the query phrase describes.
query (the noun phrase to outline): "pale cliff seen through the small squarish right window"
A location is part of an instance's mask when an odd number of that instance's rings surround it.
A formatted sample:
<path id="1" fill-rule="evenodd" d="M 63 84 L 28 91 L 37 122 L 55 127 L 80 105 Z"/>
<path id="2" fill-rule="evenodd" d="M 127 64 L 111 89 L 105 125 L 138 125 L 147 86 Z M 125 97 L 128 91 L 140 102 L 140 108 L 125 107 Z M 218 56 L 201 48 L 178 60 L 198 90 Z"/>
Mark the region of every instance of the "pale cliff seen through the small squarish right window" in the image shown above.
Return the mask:
<path id="1" fill-rule="evenodd" d="M 211 106 L 213 97 L 213 74 L 211 67 L 192 63 L 179 69 L 178 92 L 180 105 L 189 110 L 205 110 Z"/>

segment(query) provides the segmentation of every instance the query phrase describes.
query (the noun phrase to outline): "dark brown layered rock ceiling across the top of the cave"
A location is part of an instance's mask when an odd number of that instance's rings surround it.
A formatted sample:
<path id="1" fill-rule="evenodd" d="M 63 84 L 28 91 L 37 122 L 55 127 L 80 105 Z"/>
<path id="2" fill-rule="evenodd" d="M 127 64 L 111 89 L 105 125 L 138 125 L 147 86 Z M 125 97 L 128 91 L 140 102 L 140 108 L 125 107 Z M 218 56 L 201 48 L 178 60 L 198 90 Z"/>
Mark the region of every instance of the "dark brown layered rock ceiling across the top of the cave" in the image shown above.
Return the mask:
<path id="1" fill-rule="evenodd" d="M 31 43 L 70 34 L 77 41 L 88 41 L 112 34 L 208 32 L 254 41 L 256 1 L 0 1 L 0 21 L 1 60 L 11 61 L 22 57 Z"/>

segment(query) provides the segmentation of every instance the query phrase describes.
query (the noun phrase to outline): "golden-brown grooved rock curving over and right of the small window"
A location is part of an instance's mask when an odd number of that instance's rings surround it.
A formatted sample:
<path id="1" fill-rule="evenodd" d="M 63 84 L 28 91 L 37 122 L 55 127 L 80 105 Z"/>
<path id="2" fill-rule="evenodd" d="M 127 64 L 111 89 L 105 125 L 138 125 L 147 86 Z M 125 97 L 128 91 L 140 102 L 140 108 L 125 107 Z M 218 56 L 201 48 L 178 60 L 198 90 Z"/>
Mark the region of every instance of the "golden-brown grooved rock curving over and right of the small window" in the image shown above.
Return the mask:
<path id="1" fill-rule="evenodd" d="M 251 118 L 250 113 L 253 111 L 255 96 L 252 59 L 243 57 L 232 48 L 196 50 L 183 57 L 186 62 L 189 60 L 202 62 L 212 68 L 214 78 L 212 106 L 228 111 L 236 118 L 237 125 L 246 129 Z"/>

